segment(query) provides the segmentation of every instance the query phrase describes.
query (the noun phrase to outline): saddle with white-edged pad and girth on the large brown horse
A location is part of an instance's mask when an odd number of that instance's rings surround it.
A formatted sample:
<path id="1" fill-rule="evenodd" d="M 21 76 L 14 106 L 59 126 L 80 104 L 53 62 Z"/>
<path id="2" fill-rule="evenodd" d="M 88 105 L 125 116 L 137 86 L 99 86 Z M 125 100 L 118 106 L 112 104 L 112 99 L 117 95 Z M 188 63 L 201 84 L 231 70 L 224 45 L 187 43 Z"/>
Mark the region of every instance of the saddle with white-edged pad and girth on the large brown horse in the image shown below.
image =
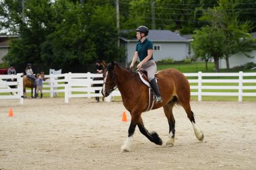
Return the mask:
<path id="1" fill-rule="evenodd" d="M 136 73 L 139 75 L 141 82 L 148 86 L 148 108 L 143 111 L 143 112 L 148 112 L 148 111 L 152 110 L 152 108 L 153 108 L 153 105 L 155 103 L 155 95 L 150 86 L 150 81 L 148 79 L 148 73 L 146 71 L 140 71 L 140 70 L 136 71 Z M 157 74 L 158 73 L 156 73 L 155 75 L 157 75 Z"/>

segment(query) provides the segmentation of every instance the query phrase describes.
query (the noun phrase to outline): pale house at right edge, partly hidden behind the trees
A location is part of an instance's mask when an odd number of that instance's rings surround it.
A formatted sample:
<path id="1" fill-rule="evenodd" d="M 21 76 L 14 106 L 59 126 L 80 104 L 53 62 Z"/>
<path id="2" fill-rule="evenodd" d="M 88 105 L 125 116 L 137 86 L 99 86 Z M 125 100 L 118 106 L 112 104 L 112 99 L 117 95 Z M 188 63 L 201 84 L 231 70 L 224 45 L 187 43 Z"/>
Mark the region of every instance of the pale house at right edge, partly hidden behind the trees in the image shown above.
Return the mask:
<path id="1" fill-rule="evenodd" d="M 256 38 L 256 32 L 253 32 L 252 36 L 253 36 L 253 38 Z M 238 53 L 230 56 L 230 58 L 228 58 L 230 68 L 237 67 L 237 66 L 243 66 L 247 62 L 256 63 L 256 50 L 248 52 L 247 54 L 249 54 L 249 56 L 254 56 L 254 58 L 248 58 L 242 52 L 238 52 Z M 226 60 L 224 58 L 220 59 L 220 68 L 226 69 Z"/>

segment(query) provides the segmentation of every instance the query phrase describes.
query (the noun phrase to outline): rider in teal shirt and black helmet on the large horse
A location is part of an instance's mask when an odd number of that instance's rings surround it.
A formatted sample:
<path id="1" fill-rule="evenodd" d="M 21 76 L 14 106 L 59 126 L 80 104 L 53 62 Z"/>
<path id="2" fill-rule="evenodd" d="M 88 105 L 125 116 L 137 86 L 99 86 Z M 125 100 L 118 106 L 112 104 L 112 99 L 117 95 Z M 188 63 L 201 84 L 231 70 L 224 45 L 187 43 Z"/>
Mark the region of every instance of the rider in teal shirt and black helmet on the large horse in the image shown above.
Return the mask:
<path id="1" fill-rule="evenodd" d="M 139 26 L 135 31 L 137 32 L 136 37 L 139 42 L 137 42 L 135 54 L 133 56 L 133 60 L 131 61 L 130 68 L 133 67 L 134 63 L 139 57 L 140 62 L 139 65 L 137 65 L 137 69 L 147 71 L 150 85 L 156 95 L 156 103 L 160 103 L 162 102 L 162 97 L 158 89 L 158 84 L 156 83 L 156 78 L 154 77 L 156 73 L 156 62 L 153 58 L 153 43 L 146 38 L 149 30 L 146 26 Z"/>

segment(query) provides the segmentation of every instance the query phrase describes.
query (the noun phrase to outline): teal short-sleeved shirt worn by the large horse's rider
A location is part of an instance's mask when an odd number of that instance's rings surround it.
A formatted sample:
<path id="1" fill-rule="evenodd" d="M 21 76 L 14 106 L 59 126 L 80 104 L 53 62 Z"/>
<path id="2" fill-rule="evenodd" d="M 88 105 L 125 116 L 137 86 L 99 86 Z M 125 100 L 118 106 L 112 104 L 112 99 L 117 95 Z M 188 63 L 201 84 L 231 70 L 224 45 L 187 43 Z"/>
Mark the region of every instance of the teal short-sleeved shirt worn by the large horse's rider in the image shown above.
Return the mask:
<path id="1" fill-rule="evenodd" d="M 141 41 L 139 41 L 136 45 L 136 51 L 139 54 L 139 60 L 143 60 L 144 58 L 146 58 L 146 56 L 148 56 L 148 50 L 153 50 L 153 43 L 152 41 L 148 40 L 148 38 L 146 38 L 142 43 Z M 150 60 L 153 59 L 153 54 L 150 58 Z"/>

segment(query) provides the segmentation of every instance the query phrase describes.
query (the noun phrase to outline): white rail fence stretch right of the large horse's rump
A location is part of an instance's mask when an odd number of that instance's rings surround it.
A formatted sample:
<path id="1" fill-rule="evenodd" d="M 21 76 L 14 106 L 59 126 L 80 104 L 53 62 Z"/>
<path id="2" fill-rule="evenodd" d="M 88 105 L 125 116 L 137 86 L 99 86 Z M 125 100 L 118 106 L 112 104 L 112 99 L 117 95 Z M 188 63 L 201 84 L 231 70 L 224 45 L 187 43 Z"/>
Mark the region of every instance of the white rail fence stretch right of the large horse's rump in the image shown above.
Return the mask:
<path id="1" fill-rule="evenodd" d="M 242 71 L 239 73 L 199 72 L 185 73 L 184 75 L 189 80 L 189 83 L 196 84 L 191 85 L 190 88 L 197 90 L 197 92 L 191 92 L 191 95 L 197 95 L 198 101 L 202 100 L 202 96 L 237 96 L 238 101 L 243 101 L 243 96 L 256 96 L 256 73 L 243 73 Z M 197 79 L 189 79 L 189 77 L 197 77 Z M 248 77 L 253 79 L 247 79 Z M 223 90 L 227 92 L 223 92 Z"/>

